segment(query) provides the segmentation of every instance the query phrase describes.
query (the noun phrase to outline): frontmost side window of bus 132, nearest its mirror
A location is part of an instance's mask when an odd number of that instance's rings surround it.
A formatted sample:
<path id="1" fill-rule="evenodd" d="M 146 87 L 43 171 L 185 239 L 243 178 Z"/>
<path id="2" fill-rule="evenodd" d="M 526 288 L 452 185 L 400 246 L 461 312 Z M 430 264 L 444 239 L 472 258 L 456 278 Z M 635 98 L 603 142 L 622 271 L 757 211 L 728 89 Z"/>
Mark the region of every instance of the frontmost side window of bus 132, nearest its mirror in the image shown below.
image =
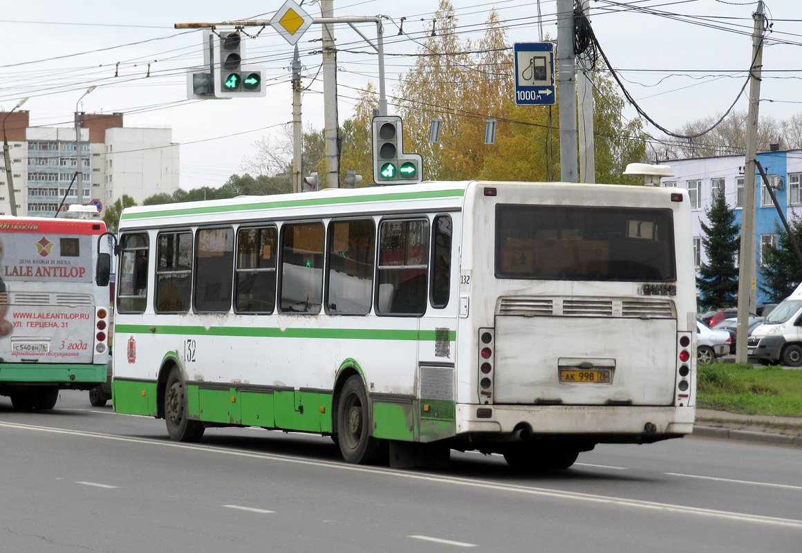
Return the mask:
<path id="1" fill-rule="evenodd" d="M 148 235 L 126 234 L 120 240 L 117 276 L 119 313 L 142 313 L 148 297 Z"/>

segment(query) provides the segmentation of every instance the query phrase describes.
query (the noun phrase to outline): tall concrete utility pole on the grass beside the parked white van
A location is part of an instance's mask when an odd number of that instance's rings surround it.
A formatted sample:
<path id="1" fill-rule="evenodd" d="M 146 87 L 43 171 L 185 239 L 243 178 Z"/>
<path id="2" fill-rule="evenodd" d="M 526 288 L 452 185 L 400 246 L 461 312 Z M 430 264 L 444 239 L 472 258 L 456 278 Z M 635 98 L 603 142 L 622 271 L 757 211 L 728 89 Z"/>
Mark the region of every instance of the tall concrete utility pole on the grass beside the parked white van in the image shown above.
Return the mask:
<path id="1" fill-rule="evenodd" d="M 755 309 L 755 155 L 757 153 L 757 118 L 760 103 L 760 73 L 763 68 L 763 2 L 752 14 L 752 63 L 749 71 L 749 112 L 747 115 L 746 168 L 743 175 L 743 210 L 741 212 L 741 257 L 738 269 L 738 324 L 735 338 L 735 362 L 746 365 L 749 311 Z"/>

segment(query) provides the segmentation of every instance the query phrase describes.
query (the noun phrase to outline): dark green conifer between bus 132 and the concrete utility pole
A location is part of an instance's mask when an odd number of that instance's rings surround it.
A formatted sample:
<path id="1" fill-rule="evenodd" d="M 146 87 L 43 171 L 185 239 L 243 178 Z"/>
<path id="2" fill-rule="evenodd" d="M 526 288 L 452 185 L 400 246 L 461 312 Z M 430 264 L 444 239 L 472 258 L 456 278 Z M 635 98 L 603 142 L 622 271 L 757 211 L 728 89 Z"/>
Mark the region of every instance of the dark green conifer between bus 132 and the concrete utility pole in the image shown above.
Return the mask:
<path id="1" fill-rule="evenodd" d="M 696 286 L 702 309 L 733 307 L 738 295 L 738 269 L 735 268 L 735 252 L 740 240 L 739 224 L 735 213 L 727 207 L 723 194 L 715 194 L 707 210 L 710 226 L 702 223 L 704 236 L 702 246 L 707 254 L 707 263 L 699 268 Z"/>

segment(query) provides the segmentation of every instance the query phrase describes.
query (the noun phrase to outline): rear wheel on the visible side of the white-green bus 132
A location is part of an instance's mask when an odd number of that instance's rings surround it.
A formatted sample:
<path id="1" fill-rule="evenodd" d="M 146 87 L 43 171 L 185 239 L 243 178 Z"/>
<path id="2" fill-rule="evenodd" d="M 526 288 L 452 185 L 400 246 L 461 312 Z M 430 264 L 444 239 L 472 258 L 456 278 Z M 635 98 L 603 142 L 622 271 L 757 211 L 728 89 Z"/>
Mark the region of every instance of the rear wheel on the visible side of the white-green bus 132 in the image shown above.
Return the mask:
<path id="1" fill-rule="evenodd" d="M 337 442 L 347 462 L 376 464 L 387 449 L 387 444 L 371 436 L 369 406 L 362 378 L 354 374 L 342 386 L 337 406 Z"/>

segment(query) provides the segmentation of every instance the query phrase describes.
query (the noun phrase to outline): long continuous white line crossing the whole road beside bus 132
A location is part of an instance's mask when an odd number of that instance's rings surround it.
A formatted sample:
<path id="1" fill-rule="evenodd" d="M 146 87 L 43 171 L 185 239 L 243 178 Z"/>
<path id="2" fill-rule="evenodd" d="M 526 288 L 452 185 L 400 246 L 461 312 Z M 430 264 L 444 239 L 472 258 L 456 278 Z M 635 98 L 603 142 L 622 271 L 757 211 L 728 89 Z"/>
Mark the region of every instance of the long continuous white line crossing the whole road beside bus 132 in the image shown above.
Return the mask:
<path id="1" fill-rule="evenodd" d="M 618 507 L 630 507 L 637 509 L 649 509 L 653 511 L 663 511 L 677 513 L 680 515 L 703 515 L 717 519 L 734 520 L 738 522 L 770 524 L 775 526 L 793 527 L 802 529 L 802 520 L 780 519 L 778 517 L 750 515 L 747 513 L 737 513 L 733 511 L 719 511 L 716 509 L 706 509 L 702 507 L 689 507 L 685 505 L 675 505 L 671 503 L 658 503 L 653 501 L 642 501 L 639 499 L 616 498 L 609 495 L 585 494 L 575 491 L 553 490 L 549 488 L 539 488 L 533 486 L 523 486 L 519 484 L 508 484 L 502 482 L 488 482 L 475 478 L 459 478 L 444 476 L 439 474 L 423 474 L 404 470 L 388 468 L 369 467 L 350 465 L 344 462 L 311 460 L 308 458 L 293 457 L 282 454 L 256 453 L 253 451 L 232 450 L 221 446 L 203 446 L 188 444 L 184 442 L 166 442 L 154 438 L 133 438 L 120 436 L 117 434 L 101 434 L 99 432 L 89 432 L 86 430 L 69 430 L 64 428 L 54 428 L 51 426 L 26 425 L 15 422 L 0 422 L 0 427 L 14 428 L 17 430 L 34 430 L 37 432 L 49 432 L 52 434 L 67 434 L 73 436 L 83 436 L 86 438 L 100 438 L 115 442 L 130 442 L 137 444 L 148 444 L 150 446 L 172 447 L 176 449 L 194 450 L 211 452 L 217 454 L 231 455 L 243 458 L 268 459 L 277 462 L 288 462 L 304 466 L 321 466 L 330 469 L 348 470 L 363 474 L 379 474 L 383 476 L 393 476 L 395 478 L 406 478 L 407 480 L 417 480 L 419 482 L 438 482 L 441 484 L 452 484 L 453 486 L 472 487 L 482 490 L 507 491 L 516 494 L 527 494 L 542 498 L 571 499 L 587 503 L 606 503 Z"/>

